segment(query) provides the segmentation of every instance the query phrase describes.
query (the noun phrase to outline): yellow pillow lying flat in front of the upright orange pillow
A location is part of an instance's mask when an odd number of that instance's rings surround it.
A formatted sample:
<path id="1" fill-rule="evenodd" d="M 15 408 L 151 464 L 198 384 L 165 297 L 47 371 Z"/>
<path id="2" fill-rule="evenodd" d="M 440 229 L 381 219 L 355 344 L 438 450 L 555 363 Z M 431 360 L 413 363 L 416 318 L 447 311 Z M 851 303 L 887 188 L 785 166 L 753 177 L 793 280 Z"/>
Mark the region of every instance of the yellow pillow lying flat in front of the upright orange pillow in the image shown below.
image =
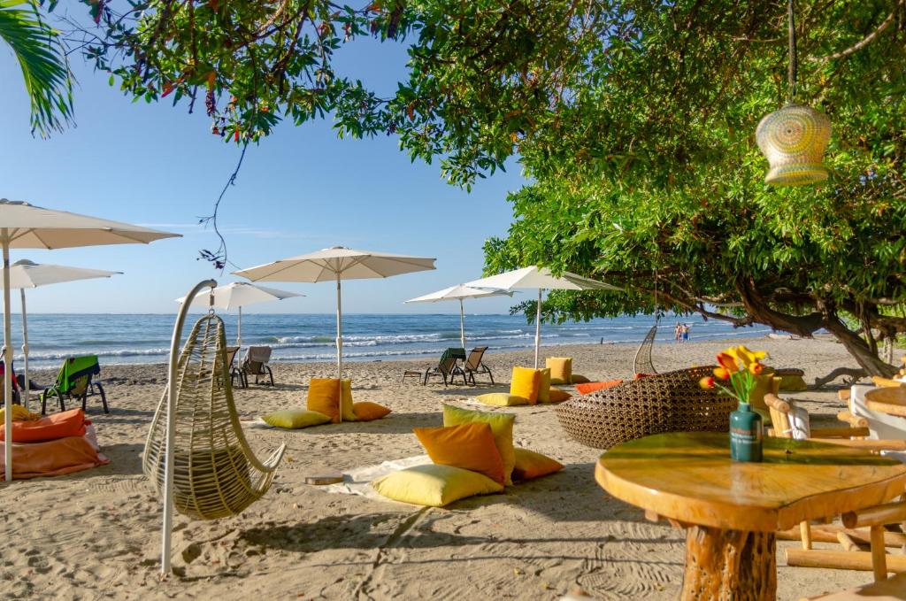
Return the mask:
<path id="1" fill-rule="evenodd" d="M 449 465 L 417 465 L 371 482 L 374 490 L 388 499 L 443 507 L 472 495 L 489 495 L 504 490 L 503 484 L 477 471 Z"/>

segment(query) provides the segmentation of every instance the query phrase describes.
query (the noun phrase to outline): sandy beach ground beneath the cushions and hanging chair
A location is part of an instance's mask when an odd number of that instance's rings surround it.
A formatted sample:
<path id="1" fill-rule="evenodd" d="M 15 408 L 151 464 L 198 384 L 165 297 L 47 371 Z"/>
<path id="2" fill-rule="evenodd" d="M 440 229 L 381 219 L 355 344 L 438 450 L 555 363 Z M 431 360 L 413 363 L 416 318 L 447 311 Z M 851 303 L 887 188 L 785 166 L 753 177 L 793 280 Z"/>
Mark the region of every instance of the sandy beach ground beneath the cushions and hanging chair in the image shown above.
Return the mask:
<path id="1" fill-rule="evenodd" d="M 735 339 L 738 340 L 738 339 Z M 758 338 L 777 366 L 800 366 L 806 380 L 854 366 L 839 344 Z M 658 344 L 660 371 L 707 364 L 722 342 Z M 545 347 L 573 356 L 574 371 L 593 379 L 631 375 L 629 345 Z M 514 408 L 516 441 L 565 464 L 553 476 L 504 494 L 421 509 L 328 494 L 306 475 L 347 470 L 423 452 L 414 426 L 440 425 L 442 402 L 507 390 L 509 367 L 531 353 L 487 357 L 498 386 L 445 389 L 400 383 L 406 368 L 427 361 L 348 364 L 356 401 L 393 413 L 303 431 L 249 430 L 263 455 L 287 452 L 274 486 L 237 518 L 212 522 L 178 516 L 173 537 L 178 576 L 158 576 L 160 504 L 141 473 L 140 453 L 165 383 L 165 366 L 104 366 L 111 413 L 89 412 L 110 465 L 59 478 L 0 487 L 0 598 L 56 599 L 555 599 L 581 588 L 598 599 L 672 599 L 684 562 L 682 532 L 648 522 L 640 509 L 612 499 L 593 479 L 601 451 L 566 439 L 551 406 Z M 236 391 L 241 418 L 304 405 L 313 376 L 332 364 L 275 364 L 274 389 Z M 48 373 L 36 373 L 46 382 Z M 843 403 L 833 389 L 800 393 L 819 422 Z M 488 411 L 494 411 L 488 408 Z M 867 572 L 784 566 L 778 597 L 797 599 L 871 581 Z"/>

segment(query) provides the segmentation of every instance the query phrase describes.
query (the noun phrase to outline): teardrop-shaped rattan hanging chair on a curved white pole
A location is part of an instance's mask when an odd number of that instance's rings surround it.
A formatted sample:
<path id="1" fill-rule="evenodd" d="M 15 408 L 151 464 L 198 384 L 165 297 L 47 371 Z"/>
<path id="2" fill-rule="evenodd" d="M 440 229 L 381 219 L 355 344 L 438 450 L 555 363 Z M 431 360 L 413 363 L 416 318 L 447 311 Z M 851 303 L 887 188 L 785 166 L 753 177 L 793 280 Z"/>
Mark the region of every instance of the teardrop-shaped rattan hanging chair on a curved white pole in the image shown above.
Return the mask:
<path id="1" fill-rule="evenodd" d="M 174 358 L 171 357 L 170 361 Z M 224 323 L 213 312 L 192 328 L 177 364 L 173 449 L 173 507 L 195 519 L 235 516 L 271 485 L 285 444 L 264 461 L 248 446 L 233 403 Z M 145 443 L 142 468 L 163 496 L 167 393 Z"/>

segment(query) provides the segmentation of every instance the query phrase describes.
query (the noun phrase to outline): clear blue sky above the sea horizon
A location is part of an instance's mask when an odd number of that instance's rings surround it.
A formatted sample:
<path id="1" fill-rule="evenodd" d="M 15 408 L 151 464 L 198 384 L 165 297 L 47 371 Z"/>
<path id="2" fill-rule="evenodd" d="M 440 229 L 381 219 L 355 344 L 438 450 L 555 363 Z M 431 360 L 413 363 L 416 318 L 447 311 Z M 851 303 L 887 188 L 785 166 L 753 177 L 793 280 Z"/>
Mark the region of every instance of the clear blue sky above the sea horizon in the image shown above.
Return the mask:
<path id="1" fill-rule="evenodd" d="M 337 70 L 379 93 L 395 89 L 406 54 L 399 45 L 356 40 Z M 204 110 L 131 102 L 107 76 L 73 56 L 76 127 L 49 140 L 30 132 L 22 75 L 0 43 L 0 198 L 182 234 L 149 246 L 13 249 L 11 260 L 124 272 L 109 280 L 28 291 L 30 313 L 168 313 L 198 281 L 236 281 L 197 260 L 217 237 L 198 226 L 234 170 L 239 149 L 209 131 Z M 435 271 L 343 284 L 344 313 L 458 313 L 458 303 L 402 301 L 481 276 L 482 245 L 505 236 L 506 194 L 525 184 L 516 161 L 470 193 L 440 179 L 437 162 L 410 162 L 395 137 L 339 140 L 330 121 L 284 122 L 249 147 L 219 221 L 229 259 L 252 267 L 325 247 L 437 257 Z M 304 298 L 250 305 L 248 313 L 332 313 L 330 284 L 267 284 Z M 17 295 L 16 295 L 17 296 Z M 467 302 L 468 313 L 506 313 L 513 301 Z M 18 312 L 14 303 L 14 312 Z"/>

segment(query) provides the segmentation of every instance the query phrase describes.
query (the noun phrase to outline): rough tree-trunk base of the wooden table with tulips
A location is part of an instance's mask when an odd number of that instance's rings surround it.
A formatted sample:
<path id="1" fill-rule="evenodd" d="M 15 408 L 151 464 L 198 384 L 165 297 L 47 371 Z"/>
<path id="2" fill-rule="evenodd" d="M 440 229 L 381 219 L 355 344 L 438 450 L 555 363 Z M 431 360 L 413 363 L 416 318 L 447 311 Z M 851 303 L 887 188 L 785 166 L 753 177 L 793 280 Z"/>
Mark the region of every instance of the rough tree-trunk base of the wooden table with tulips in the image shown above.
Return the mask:
<path id="1" fill-rule="evenodd" d="M 773 601 L 777 593 L 773 532 L 689 526 L 682 595 L 688 601 Z"/>

